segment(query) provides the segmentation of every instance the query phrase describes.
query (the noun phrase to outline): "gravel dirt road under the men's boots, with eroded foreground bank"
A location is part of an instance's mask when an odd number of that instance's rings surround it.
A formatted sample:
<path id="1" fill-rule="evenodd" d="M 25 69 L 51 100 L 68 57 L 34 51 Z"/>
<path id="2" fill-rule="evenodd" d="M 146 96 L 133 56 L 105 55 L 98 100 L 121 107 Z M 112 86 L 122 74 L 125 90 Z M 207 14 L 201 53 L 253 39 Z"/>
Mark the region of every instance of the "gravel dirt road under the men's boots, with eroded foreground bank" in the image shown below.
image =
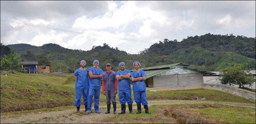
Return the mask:
<path id="1" fill-rule="evenodd" d="M 195 101 L 195 100 L 149 100 L 148 101 L 149 110 L 151 105 L 169 105 L 169 104 L 184 104 L 184 103 L 219 103 L 230 107 L 246 107 L 255 108 L 255 103 L 234 103 L 234 102 L 213 102 L 213 101 Z M 112 106 L 111 106 L 112 107 Z M 126 114 L 128 106 L 126 106 Z M 193 107 L 193 106 L 192 106 Z M 204 106 L 194 106 L 194 107 L 204 107 Z M 136 104 L 134 103 L 133 109 L 136 109 Z M 201 117 L 195 113 L 189 113 L 182 110 L 184 108 L 171 108 L 170 106 L 160 107 L 157 109 L 157 116 L 150 118 L 140 118 L 140 119 L 129 119 L 121 121 L 104 121 L 106 118 L 114 117 L 113 108 L 111 108 L 110 114 L 105 114 L 106 105 L 100 106 L 101 113 L 86 114 L 85 109 L 81 107 L 80 113 L 76 113 L 76 108 L 62 110 L 62 111 L 49 111 L 49 112 L 38 112 L 29 113 L 27 115 L 15 115 L 15 116 L 1 116 L 1 123 L 130 123 L 130 122 L 162 122 L 162 123 L 227 123 L 218 120 L 208 120 Z M 144 111 L 143 107 L 142 110 Z M 117 105 L 117 113 L 121 112 L 120 105 Z M 135 114 L 136 111 L 133 110 Z M 195 116 L 194 116 L 195 115 Z M 198 117 L 198 118 L 195 118 Z M 190 118 L 190 119 L 186 119 Z M 194 118 L 194 119 L 193 119 Z M 201 122 L 199 121 L 201 120 Z"/>

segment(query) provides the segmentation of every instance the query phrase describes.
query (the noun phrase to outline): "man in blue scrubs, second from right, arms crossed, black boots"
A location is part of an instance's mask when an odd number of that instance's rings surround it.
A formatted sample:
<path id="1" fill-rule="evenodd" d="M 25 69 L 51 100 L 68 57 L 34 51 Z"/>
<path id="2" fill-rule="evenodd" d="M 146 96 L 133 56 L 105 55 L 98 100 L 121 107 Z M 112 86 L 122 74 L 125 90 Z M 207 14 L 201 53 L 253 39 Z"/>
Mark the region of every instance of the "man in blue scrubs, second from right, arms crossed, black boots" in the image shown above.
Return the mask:
<path id="1" fill-rule="evenodd" d="M 125 69 L 125 63 L 120 62 L 119 67 L 121 70 L 116 72 L 116 79 L 118 80 L 118 97 L 121 104 L 121 113 L 124 114 L 126 110 L 125 103 L 128 103 L 130 113 L 132 113 L 132 99 L 131 99 L 131 83 L 130 83 L 130 70 Z"/>

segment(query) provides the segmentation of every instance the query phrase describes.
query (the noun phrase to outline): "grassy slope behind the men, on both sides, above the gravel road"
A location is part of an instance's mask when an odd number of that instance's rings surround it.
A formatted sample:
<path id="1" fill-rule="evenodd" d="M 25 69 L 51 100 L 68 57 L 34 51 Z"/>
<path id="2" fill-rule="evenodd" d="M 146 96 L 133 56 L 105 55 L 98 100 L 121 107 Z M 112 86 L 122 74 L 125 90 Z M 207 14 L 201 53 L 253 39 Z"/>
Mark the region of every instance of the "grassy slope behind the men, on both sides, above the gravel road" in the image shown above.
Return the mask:
<path id="1" fill-rule="evenodd" d="M 15 71 L 12 71 L 12 73 L 10 71 L 1 71 L 0 88 L 1 112 L 74 105 L 75 80 L 72 74 L 56 76 L 54 74 L 24 74 Z M 255 103 L 232 94 L 204 89 L 147 92 L 146 95 L 148 100 L 195 100 L 196 96 L 212 101 Z M 118 101 L 118 95 L 116 95 L 116 99 Z M 101 104 L 104 104 L 105 101 L 106 97 L 101 92 Z"/>

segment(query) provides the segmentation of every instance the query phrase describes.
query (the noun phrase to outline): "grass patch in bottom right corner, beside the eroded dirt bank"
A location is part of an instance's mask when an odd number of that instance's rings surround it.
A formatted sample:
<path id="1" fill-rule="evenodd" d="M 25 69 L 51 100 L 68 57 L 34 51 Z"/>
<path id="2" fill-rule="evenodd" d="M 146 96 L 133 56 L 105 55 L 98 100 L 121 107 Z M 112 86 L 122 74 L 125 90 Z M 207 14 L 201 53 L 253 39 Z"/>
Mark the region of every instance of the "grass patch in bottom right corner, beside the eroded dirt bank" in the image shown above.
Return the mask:
<path id="1" fill-rule="evenodd" d="M 255 109 L 253 108 L 191 108 L 209 119 L 218 119 L 231 123 L 255 124 Z"/>

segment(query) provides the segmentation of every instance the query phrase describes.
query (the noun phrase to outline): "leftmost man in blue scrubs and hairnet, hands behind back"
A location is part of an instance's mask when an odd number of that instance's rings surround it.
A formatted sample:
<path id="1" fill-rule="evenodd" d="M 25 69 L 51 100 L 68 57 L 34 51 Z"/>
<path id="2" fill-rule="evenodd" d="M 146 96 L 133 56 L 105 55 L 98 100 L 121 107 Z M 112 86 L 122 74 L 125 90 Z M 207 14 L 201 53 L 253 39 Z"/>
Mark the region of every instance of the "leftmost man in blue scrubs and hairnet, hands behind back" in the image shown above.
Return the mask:
<path id="1" fill-rule="evenodd" d="M 76 97 L 75 97 L 75 106 L 76 112 L 79 112 L 80 109 L 80 99 L 83 94 L 85 111 L 87 109 L 87 96 L 88 96 L 88 71 L 85 68 L 86 62 L 82 60 L 80 62 L 81 67 L 76 69 L 74 72 L 75 80 L 76 80 Z"/>

